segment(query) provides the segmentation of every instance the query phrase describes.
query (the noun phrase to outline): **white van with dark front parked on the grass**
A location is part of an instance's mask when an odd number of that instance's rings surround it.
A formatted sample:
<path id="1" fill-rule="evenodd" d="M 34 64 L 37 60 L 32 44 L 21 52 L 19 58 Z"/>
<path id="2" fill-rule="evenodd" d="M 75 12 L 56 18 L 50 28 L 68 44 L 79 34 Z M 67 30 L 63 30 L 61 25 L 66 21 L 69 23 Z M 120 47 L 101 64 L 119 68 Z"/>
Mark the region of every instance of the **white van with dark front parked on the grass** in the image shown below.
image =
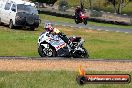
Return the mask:
<path id="1" fill-rule="evenodd" d="M 34 30 L 39 26 L 40 19 L 34 3 L 7 0 L 0 1 L 0 24 L 8 24 L 9 28 L 15 26 L 28 27 Z"/>

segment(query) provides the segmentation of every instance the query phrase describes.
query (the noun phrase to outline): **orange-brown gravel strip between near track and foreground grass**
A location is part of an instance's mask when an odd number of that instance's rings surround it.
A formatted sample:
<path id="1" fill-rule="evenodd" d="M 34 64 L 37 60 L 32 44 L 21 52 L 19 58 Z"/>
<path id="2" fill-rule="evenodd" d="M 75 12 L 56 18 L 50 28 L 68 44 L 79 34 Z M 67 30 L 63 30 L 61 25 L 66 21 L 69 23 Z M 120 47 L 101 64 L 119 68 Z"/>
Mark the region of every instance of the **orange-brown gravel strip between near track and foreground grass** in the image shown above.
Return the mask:
<path id="1" fill-rule="evenodd" d="M 0 71 L 78 71 L 80 66 L 88 71 L 132 71 L 132 61 L 0 59 Z"/>

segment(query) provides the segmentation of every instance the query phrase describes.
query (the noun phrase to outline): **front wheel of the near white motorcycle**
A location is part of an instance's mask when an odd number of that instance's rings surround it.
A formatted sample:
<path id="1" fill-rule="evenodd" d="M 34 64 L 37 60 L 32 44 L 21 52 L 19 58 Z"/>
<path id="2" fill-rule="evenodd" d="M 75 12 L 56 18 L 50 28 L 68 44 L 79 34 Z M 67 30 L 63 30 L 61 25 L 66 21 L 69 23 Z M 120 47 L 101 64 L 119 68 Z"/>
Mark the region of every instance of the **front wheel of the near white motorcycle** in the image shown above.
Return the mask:
<path id="1" fill-rule="evenodd" d="M 53 48 L 51 47 L 45 48 L 42 45 L 39 46 L 38 53 L 41 57 L 55 57 L 56 56 L 56 51 Z"/>

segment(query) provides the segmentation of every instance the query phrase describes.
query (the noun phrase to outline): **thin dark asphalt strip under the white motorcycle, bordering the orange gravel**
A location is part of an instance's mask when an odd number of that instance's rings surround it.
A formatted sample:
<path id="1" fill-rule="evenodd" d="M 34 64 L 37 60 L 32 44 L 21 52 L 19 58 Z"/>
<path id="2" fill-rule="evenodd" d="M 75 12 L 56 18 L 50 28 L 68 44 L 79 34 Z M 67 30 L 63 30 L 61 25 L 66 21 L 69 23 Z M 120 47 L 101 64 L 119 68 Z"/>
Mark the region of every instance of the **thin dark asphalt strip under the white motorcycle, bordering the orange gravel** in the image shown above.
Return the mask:
<path id="1" fill-rule="evenodd" d="M 126 59 L 89 59 L 89 58 L 66 58 L 66 57 L 23 57 L 23 56 L 0 56 L 7 60 L 75 60 L 75 61 L 104 61 L 104 62 L 132 62 Z"/>

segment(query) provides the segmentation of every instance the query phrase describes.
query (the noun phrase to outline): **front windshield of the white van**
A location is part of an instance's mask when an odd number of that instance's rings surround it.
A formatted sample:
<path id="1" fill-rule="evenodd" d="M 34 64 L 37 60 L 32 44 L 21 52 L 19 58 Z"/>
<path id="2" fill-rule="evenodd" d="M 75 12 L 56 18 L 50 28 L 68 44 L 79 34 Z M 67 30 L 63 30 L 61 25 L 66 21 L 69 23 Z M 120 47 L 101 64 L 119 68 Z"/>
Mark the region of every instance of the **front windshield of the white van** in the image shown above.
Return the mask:
<path id="1" fill-rule="evenodd" d="M 29 13 L 29 14 L 38 14 L 37 9 L 31 5 L 18 4 L 17 11 L 25 12 L 25 13 Z"/>

